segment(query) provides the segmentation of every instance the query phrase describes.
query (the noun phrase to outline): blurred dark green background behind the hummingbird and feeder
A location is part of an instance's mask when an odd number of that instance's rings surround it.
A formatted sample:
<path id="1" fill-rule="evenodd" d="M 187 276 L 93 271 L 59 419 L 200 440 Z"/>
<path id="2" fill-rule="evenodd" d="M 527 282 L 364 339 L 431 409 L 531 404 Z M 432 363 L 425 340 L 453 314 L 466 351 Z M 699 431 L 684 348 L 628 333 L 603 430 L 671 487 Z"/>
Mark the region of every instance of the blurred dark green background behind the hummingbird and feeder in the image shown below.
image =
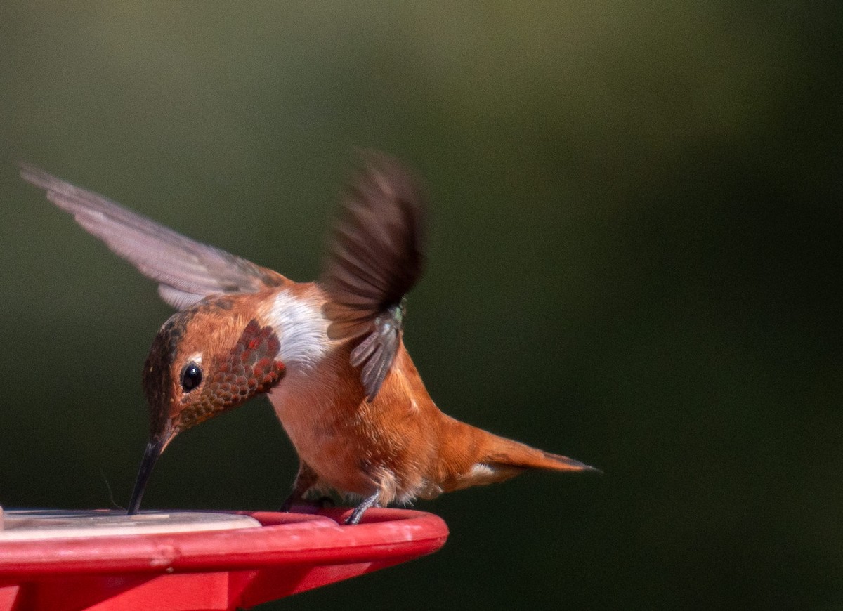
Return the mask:
<path id="1" fill-rule="evenodd" d="M 448 414 L 603 476 L 420 509 L 448 544 L 271 608 L 843 608 L 843 5 L 0 8 L 0 502 L 125 505 L 170 309 L 19 160 L 319 273 L 355 147 L 427 181 L 406 343 Z M 276 507 L 265 399 L 147 507 Z"/>

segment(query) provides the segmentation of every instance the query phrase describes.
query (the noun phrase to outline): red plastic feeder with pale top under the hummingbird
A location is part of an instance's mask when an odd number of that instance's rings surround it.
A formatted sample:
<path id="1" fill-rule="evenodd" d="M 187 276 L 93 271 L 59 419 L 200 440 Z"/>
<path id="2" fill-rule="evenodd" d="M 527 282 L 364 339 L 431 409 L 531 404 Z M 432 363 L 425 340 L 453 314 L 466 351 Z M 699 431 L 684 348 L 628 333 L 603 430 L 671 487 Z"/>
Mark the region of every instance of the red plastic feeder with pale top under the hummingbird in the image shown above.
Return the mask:
<path id="1" fill-rule="evenodd" d="M 250 608 L 431 554 L 442 518 L 317 513 L 0 513 L 0 611 Z"/>

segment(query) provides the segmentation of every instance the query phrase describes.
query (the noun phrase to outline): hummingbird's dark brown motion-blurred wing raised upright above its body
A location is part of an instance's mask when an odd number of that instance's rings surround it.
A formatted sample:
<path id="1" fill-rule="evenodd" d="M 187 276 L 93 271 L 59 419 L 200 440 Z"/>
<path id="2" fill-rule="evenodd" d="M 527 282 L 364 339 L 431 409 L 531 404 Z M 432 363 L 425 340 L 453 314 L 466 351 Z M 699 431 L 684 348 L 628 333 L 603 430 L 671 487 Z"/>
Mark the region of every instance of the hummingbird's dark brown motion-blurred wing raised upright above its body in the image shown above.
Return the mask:
<path id="1" fill-rule="evenodd" d="M 371 401 L 395 360 L 405 320 L 405 295 L 424 267 L 424 198 L 395 159 L 364 153 L 346 187 L 331 235 L 322 282 L 333 339 L 362 338 L 352 365 Z"/>

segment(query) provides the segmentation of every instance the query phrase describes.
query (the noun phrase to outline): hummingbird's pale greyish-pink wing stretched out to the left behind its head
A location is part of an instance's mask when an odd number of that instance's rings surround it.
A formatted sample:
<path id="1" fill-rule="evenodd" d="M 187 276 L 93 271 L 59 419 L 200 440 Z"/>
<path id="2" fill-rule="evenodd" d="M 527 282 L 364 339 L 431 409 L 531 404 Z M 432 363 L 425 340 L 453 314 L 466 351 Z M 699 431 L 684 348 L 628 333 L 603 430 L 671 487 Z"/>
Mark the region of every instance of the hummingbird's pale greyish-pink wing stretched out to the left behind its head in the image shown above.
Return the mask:
<path id="1" fill-rule="evenodd" d="M 24 180 L 46 190 L 47 199 L 70 212 L 84 229 L 158 282 L 158 294 L 182 309 L 208 295 L 257 292 L 287 279 L 224 250 L 175 233 L 91 191 L 80 189 L 30 165 Z"/>

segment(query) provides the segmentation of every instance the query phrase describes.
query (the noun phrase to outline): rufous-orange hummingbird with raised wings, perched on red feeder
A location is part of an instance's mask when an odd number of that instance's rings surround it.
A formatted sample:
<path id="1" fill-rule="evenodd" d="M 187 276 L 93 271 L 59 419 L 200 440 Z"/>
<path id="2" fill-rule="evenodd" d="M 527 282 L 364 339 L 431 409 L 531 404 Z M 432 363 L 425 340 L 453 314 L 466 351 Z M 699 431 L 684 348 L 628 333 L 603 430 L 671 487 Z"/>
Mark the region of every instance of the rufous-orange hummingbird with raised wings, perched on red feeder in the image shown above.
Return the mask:
<path id="1" fill-rule="evenodd" d="M 21 165 L 24 180 L 177 309 L 143 366 L 149 437 L 128 513 L 182 431 L 266 394 L 298 454 L 282 510 L 331 490 L 371 506 L 432 499 L 529 469 L 597 471 L 440 411 L 404 344 L 406 295 L 425 264 L 427 201 L 395 158 L 364 152 L 317 281 L 201 244 L 114 201 Z"/>

